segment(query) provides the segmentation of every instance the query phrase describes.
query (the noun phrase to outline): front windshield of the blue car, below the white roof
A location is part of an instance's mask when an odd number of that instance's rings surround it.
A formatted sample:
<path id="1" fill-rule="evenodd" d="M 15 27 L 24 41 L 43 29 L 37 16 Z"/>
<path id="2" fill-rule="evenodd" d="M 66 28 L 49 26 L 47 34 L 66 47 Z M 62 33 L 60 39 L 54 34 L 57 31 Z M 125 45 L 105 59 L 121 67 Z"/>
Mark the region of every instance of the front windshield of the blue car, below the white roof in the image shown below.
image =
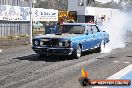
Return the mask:
<path id="1" fill-rule="evenodd" d="M 60 25 L 58 28 L 59 33 L 69 34 L 84 34 L 84 26 L 81 25 Z"/>

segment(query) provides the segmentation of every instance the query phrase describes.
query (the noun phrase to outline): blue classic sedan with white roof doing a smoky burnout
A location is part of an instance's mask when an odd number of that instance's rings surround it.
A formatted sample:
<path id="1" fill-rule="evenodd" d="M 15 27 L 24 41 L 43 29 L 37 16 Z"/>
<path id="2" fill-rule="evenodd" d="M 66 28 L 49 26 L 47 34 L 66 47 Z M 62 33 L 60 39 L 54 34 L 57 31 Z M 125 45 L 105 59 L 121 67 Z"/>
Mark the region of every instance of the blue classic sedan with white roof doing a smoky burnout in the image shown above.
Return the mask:
<path id="1" fill-rule="evenodd" d="M 109 42 L 109 34 L 100 31 L 96 24 L 64 23 L 58 32 L 35 36 L 32 49 L 40 56 L 72 55 L 79 58 L 83 51 L 101 51 L 102 45 Z"/>

